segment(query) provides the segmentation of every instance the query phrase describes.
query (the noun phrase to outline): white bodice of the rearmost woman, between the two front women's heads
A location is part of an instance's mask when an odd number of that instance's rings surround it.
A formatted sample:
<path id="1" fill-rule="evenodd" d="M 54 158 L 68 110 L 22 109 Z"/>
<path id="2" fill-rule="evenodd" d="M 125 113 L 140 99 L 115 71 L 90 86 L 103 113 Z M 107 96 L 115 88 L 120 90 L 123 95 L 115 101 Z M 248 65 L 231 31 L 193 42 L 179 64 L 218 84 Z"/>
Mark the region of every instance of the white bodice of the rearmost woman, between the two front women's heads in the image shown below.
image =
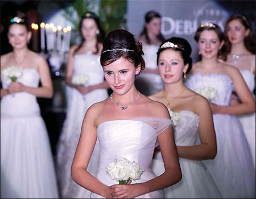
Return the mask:
<path id="1" fill-rule="evenodd" d="M 156 69 L 158 65 L 156 64 L 156 52 L 158 52 L 158 45 L 143 45 L 143 58 L 145 60 L 146 68 Z"/>

